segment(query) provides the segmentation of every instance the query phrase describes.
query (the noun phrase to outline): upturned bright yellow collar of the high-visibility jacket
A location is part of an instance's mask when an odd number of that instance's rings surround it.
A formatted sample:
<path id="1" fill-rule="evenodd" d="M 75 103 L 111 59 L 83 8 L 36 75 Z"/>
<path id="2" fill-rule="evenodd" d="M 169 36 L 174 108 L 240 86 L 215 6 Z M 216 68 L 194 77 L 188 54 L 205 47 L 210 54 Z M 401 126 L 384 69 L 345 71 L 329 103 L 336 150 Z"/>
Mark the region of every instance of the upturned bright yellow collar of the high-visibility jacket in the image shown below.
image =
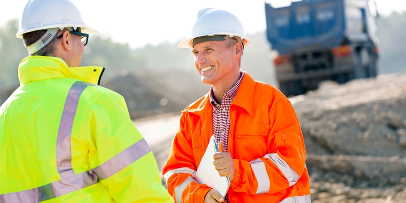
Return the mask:
<path id="1" fill-rule="evenodd" d="M 68 67 L 58 57 L 28 56 L 18 65 L 18 79 L 20 85 L 55 78 L 75 78 L 99 85 L 103 71 L 100 66 Z"/>

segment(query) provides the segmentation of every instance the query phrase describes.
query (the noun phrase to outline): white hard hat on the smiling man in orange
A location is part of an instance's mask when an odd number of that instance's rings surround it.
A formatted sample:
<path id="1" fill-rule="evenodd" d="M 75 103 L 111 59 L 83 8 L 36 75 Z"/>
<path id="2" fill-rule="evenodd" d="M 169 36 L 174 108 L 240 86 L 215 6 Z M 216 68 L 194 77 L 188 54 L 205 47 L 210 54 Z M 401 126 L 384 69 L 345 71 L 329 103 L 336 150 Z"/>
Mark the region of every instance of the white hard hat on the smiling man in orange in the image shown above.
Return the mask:
<path id="1" fill-rule="evenodd" d="M 214 35 L 238 36 L 241 38 L 244 46 L 249 44 L 249 38 L 246 36 L 244 27 L 237 16 L 222 9 L 206 8 L 197 13 L 191 37 L 180 42 L 178 47 L 193 48 L 193 39 Z"/>

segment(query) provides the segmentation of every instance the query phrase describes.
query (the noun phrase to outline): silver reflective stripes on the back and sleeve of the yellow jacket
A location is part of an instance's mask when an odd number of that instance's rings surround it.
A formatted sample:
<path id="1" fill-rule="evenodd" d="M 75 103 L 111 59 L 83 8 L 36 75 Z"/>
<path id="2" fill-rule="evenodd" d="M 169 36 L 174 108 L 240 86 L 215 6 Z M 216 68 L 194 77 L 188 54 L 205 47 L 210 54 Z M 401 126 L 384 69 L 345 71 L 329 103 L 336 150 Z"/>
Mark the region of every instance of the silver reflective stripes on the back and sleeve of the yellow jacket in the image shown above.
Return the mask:
<path id="1" fill-rule="evenodd" d="M 93 170 L 74 173 L 71 162 L 71 131 L 80 94 L 89 85 L 93 84 L 75 82 L 66 98 L 56 144 L 56 165 L 61 180 L 29 190 L 1 194 L 0 202 L 38 202 L 80 190 L 114 175 L 151 151 L 147 142 L 142 139 Z"/>

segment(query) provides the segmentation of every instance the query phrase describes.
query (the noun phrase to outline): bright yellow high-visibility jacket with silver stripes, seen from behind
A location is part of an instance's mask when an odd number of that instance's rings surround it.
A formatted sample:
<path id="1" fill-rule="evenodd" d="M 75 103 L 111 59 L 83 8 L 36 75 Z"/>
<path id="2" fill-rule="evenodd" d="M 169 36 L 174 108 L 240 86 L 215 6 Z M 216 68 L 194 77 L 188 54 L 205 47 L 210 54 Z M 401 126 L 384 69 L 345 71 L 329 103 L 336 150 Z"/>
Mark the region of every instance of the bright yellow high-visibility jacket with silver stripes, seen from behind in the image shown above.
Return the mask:
<path id="1" fill-rule="evenodd" d="M 103 67 L 29 56 L 0 107 L 0 202 L 173 202 Z"/>

